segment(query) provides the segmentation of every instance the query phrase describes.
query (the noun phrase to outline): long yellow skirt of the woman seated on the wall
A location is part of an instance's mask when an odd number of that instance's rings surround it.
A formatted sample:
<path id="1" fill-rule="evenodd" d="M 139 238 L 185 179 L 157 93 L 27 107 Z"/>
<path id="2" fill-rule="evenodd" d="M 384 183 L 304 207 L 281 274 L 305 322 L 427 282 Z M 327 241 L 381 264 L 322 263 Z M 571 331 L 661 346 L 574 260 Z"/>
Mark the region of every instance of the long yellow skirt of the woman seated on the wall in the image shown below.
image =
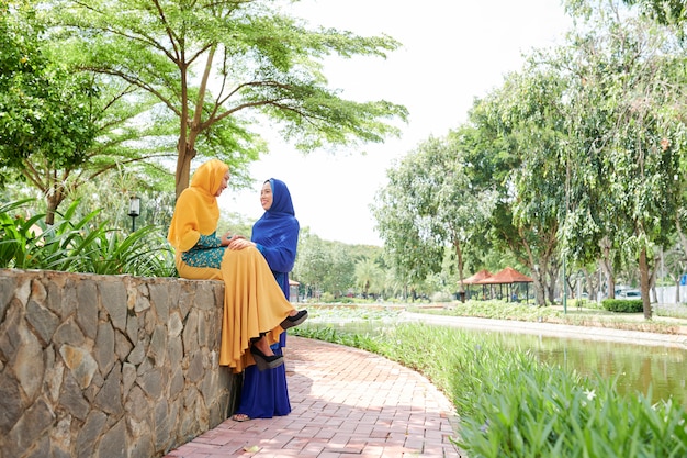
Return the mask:
<path id="1" fill-rule="evenodd" d="M 270 344 L 279 340 L 280 324 L 294 308 L 257 248 L 226 249 L 219 269 L 191 267 L 177 255 L 177 270 L 182 278 L 224 281 L 222 366 L 241 372 L 255 364 L 248 350 L 251 338 L 267 333 Z"/>

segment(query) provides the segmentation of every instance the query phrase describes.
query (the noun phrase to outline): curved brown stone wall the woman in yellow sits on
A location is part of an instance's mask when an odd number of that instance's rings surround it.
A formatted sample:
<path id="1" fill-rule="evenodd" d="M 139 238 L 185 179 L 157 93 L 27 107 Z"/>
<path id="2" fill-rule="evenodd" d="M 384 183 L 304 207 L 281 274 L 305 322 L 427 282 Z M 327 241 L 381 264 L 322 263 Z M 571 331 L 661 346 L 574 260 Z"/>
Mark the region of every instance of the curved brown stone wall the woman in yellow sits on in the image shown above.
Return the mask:
<path id="1" fill-rule="evenodd" d="M 0 269 L 0 457 L 159 457 L 224 421 L 224 284 Z"/>

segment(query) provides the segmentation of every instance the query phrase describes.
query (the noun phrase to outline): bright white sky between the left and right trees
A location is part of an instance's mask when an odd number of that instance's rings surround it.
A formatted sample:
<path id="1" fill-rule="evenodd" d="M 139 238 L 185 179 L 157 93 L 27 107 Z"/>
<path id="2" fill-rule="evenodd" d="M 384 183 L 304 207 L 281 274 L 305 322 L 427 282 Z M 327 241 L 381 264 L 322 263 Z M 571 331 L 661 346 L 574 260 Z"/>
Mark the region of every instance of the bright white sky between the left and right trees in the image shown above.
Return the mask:
<path id="1" fill-rule="evenodd" d="M 402 43 L 386 59 L 328 59 L 329 87 L 356 101 L 405 105 L 399 138 L 308 155 L 270 139 L 270 153 L 250 166 L 251 189 L 225 191 L 224 211 L 247 223 L 262 214 L 259 193 L 268 178 L 283 180 L 301 227 L 326 241 L 382 246 L 370 210 L 386 171 L 431 136 L 466 120 L 475 98 L 519 70 L 522 53 L 561 43 L 571 20 L 559 0 L 303 0 L 292 14 L 312 26 L 359 35 L 387 34 Z"/>

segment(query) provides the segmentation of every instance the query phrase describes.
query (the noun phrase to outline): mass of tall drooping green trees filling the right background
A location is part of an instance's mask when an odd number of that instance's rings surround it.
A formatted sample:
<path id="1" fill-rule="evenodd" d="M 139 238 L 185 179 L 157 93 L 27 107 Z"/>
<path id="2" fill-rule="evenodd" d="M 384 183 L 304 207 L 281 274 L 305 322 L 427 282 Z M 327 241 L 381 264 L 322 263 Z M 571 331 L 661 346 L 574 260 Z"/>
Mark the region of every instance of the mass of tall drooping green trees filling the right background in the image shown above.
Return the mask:
<path id="1" fill-rule="evenodd" d="M 394 267 L 415 281 L 455 249 L 443 232 L 453 219 L 469 235 L 461 247 L 483 253 L 474 271 L 489 252 L 510 254 L 532 272 L 539 304 L 567 283 L 561 269 L 602 266 L 612 295 L 616 272 L 637 266 L 650 319 L 658 254 L 686 213 L 686 56 L 674 29 L 618 1 L 568 7 L 583 24 L 567 43 L 531 53 L 464 125 L 392 168 L 375 216 Z M 447 159 L 430 158 L 442 143 Z M 478 199 L 489 190 L 495 198 Z"/>

